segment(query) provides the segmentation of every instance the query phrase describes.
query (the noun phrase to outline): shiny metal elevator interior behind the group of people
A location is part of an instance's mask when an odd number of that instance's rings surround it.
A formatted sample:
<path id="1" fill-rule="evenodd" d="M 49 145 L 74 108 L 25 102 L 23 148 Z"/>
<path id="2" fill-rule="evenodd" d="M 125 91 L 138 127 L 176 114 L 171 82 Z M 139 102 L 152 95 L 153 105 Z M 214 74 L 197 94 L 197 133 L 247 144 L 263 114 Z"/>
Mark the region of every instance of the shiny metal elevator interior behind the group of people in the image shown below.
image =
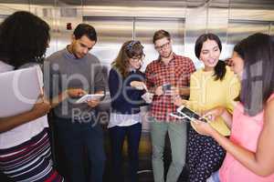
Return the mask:
<path id="1" fill-rule="evenodd" d="M 174 52 L 189 56 L 197 68 L 203 65 L 195 57 L 195 39 L 205 32 L 221 38 L 222 59 L 227 59 L 233 45 L 248 35 L 274 35 L 273 0 L 0 0 L 0 23 L 17 10 L 32 12 L 51 26 L 47 56 L 69 44 L 76 25 L 93 25 L 99 40 L 91 53 L 100 58 L 107 71 L 121 44 L 131 39 L 144 45 L 144 70 L 157 58 L 152 37 L 158 29 L 169 31 Z M 108 109 L 109 103 L 102 107 Z M 148 130 L 143 122 L 143 131 Z M 140 152 L 141 156 L 150 153 L 143 140 Z"/>

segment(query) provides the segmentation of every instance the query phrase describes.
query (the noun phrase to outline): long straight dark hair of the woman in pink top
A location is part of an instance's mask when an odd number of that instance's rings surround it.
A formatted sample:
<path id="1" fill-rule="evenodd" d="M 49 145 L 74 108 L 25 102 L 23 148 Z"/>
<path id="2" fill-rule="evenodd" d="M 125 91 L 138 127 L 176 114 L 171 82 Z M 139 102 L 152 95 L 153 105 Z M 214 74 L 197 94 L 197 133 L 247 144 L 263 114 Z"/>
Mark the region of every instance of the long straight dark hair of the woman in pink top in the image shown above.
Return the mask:
<path id="1" fill-rule="evenodd" d="M 261 33 L 249 35 L 234 51 L 244 60 L 240 101 L 249 116 L 256 116 L 274 92 L 274 38 Z"/>

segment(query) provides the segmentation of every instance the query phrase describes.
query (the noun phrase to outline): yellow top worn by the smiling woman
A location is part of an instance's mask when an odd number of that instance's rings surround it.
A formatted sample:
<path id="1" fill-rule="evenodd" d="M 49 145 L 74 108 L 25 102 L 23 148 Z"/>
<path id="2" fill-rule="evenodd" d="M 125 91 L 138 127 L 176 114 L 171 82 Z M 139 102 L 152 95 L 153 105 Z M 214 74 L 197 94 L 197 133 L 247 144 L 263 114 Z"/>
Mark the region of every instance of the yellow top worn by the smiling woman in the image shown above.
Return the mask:
<path id="1" fill-rule="evenodd" d="M 197 70 L 190 79 L 190 97 L 186 105 L 198 113 L 216 106 L 225 106 L 232 113 L 236 104 L 234 99 L 239 95 L 240 83 L 230 68 L 226 68 L 227 73 L 222 81 L 215 80 L 214 71 Z M 210 125 L 223 136 L 230 135 L 230 129 L 221 117 L 210 122 Z"/>

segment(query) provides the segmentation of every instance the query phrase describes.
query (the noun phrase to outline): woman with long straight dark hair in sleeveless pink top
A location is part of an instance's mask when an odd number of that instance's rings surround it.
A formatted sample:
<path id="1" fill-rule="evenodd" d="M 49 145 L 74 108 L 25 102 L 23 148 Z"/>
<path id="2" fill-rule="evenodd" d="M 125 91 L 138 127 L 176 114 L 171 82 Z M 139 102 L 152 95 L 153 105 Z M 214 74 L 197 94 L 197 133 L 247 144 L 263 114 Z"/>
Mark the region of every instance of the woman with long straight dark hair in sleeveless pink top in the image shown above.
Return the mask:
<path id="1" fill-rule="evenodd" d="M 274 39 L 255 34 L 240 41 L 232 56 L 232 69 L 241 80 L 233 115 L 218 106 L 205 116 L 222 116 L 231 125 L 231 136 L 221 136 L 207 123 L 196 129 L 213 137 L 227 150 L 218 173 L 208 181 L 274 181 Z"/>

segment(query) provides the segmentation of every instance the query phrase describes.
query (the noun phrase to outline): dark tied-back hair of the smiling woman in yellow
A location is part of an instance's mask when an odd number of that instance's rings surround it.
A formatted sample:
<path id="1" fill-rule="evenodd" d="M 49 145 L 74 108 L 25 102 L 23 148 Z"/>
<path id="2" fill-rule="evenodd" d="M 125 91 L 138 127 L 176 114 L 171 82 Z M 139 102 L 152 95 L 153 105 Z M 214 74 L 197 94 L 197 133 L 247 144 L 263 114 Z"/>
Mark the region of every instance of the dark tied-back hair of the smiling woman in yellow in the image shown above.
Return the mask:
<path id="1" fill-rule="evenodd" d="M 200 35 L 195 42 L 195 56 L 198 59 L 200 58 L 201 50 L 206 40 L 214 40 L 218 45 L 220 51 L 222 51 L 222 43 L 217 35 L 211 33 L 203 34 Z M 223 80 L 227 73 L 226 63 L 224 61 L 219 60 L 217 65 L 214 67 L 214 72 L 216 80 Z"/>

